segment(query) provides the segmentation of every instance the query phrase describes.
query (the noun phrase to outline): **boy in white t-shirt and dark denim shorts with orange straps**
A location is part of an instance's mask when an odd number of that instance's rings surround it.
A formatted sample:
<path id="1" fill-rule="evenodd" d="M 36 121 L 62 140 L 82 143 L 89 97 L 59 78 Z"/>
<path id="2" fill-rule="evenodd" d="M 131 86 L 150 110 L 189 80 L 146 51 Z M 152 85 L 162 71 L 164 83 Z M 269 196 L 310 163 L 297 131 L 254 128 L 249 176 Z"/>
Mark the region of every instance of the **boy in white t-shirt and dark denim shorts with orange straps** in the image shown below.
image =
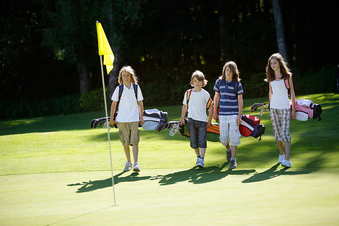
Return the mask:
<path id="1" fill-rule="evenodd" d="M 205 166 L 204 156 L 207 148 L 207 127 L 212 125 L 213 116 L 213 101 L 211 96 L 206 90 L 202 89 L 206 84 L 207 80 L 202 72 L 195 71 L 192 74 L 191 86 L 194 88 L 192 90 L 187 90 L 185 93 L 180 119 L 180 123 L 185 124 L 184 117 L 186 112 L 188 112 L 187 130 L 190 134 L 191 148 L 193 148 L 197 154 L 196 166 L 199 168 Z M 191 93 L 188 95 L 189 103 L 187 104 L 188 91 L 191 91 Z M 211 112 L 208 116 L 208 121 L 206 115 L 207 103 L 210 105 L 209 111 Z"/>

